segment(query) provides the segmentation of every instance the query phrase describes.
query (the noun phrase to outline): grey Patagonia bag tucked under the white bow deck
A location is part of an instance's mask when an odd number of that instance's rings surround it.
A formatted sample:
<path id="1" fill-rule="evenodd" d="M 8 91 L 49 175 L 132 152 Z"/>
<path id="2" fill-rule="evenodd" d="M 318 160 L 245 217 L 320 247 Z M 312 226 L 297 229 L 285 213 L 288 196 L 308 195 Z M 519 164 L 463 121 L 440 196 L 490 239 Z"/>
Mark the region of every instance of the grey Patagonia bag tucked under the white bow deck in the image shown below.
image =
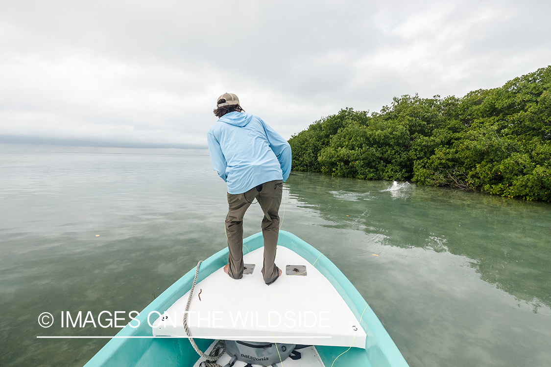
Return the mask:
<path id="1" fill-rule="evenodd" d="M 226 340 L 226 352 L 230 357 L 250 364 L 269 366 L 279 363 L 293 352 L 296 344 L 241 342 Z M 277 346 L 277 348 L 276 348 Z"/>

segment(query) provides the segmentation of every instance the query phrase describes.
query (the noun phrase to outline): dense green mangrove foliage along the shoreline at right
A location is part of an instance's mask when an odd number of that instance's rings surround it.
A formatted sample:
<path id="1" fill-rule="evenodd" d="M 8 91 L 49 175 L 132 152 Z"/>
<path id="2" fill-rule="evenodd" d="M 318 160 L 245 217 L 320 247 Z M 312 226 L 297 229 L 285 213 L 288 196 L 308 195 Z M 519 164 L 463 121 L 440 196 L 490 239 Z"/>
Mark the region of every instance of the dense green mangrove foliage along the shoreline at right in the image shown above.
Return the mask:
<path id="1" fill-rule="evenodd" d="M 462 98 L 344 108 L 289 144 L 296 171 L 551 201 L 551 66 Z"/>

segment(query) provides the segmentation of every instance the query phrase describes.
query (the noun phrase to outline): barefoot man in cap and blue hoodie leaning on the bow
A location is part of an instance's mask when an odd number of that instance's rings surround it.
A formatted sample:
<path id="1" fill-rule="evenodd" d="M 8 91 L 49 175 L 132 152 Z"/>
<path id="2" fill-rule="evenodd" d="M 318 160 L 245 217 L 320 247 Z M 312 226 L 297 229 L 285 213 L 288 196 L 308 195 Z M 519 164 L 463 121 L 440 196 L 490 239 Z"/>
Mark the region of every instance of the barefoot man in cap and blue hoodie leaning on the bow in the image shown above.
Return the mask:
<path id="1" fill-rule="evenodd" d="M 291 171 L 291 147 L 281 135 L 253 114 L 246 113 L 235 94 L 218 97 L 214 114 L 219 120 L 207 134 L 214 171 L 228 183 L 228 265 L 234 279 L 243 276 L 243 217 L 256 200 L 262 211 L 264 263 L 262 275 L 272 284 L 281 275 L 275 264 L 279 234 L 279 205 L 283 182 Z"/>

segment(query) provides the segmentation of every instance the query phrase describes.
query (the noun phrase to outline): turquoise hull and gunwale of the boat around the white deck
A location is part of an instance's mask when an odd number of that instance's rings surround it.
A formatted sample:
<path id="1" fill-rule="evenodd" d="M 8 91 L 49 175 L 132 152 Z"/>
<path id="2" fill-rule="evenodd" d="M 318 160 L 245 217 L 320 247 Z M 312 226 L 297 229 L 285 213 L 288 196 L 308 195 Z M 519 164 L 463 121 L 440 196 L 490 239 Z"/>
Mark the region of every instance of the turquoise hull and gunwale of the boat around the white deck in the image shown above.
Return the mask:
<path id="1" fill-rule="evenodd" d="M 244 245 L 249 251 L 262 247 L 262 233 L 246 238 Z M 365 349 L 316 346 L 316 350 L 326 366 L 408 366 L 396 344 L 364 298 L 325 255 L 294 234 L 285 231 L 279 232 L 278 246 L 293 250 L 310 264 L 314 264 L 316 269 L 337 289 L 356 319 L 361 319 L 360 325 L 367 334 Z M 210 256 L 202 262 L 197 282 L 223 267 L 227 261 L 227 248 Z M 124 327 L 88 361 L 85 367 L 193 366 L 199 357 L 189 340 L 187 338 L 153 337 L 147 316 L 152 311 L 158 311 L 161 314 L 166 311 L 191 289 L 194 276 L 195 268 L 172 284 L 136 317 L 140 326 L 133 328 L 127 325 Z M 137 322 L 132 321 L 132 324 L 137 325 Z M 195 339 L 195 341 L 202 350 L 206 350 L 213 343 L 212 339 Z"/>

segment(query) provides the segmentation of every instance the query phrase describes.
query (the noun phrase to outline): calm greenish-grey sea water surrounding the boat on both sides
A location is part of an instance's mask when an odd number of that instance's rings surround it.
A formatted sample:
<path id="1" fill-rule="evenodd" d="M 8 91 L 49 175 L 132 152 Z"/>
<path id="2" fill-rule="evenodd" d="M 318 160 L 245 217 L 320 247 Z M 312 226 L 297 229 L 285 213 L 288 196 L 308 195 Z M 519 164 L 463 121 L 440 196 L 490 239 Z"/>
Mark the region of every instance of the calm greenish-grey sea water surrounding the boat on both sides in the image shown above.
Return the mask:
<path id="1" fill-rule="evenodd" d="M 61 312 L 142 310 L 225 247 L 225 213 L 208 156 L 0 153 L 0 365 L 84 365 L 107 339 L 36 336 L 115 335 Z M 297 172 L 280 215 L 410 366 L 551 365 L 551 205 Z"/>

